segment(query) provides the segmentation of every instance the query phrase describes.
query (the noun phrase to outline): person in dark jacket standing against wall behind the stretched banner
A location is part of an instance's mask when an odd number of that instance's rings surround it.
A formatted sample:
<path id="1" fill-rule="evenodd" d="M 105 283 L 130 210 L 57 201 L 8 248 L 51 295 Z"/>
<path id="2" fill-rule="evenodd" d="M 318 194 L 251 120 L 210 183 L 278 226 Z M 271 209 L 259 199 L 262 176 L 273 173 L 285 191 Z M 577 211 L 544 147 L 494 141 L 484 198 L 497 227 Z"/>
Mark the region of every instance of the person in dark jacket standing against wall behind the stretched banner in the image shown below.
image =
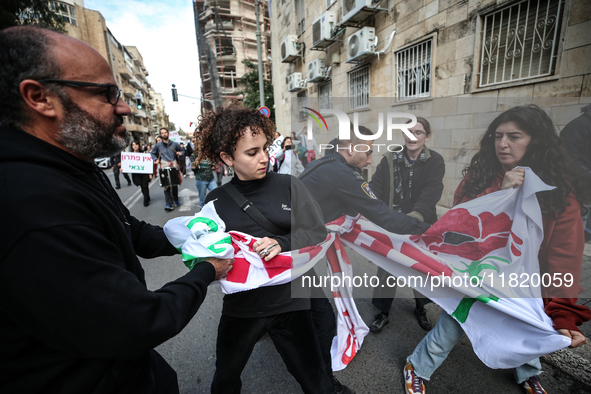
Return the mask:
<path id="1" fill-rule="evenodd" d="M 431 124 L 427 119 L 417 117 L 417 124 L 409 131 L 416 141 L 404 134 L 404 149 L 384 153 L 369 186 L 376 197 L 388 204 L 393 211 L 433 224 L 437 221 L 436 205 L 443 193 L 445 163 L 439 153 L 425 145 L 432 134 Z M 396 287 L 386 285 L 390 274 L 378 268 L 377 276 L 380 284 L 374 288 L 371 302 L 379 313 L 369 325 L 374 333 L 381 332 L 389 323 L 389 313 L 396 294 Z M 419 325 L 429 331 L 432 325 L 427 318 L 425 305 L 431 300 L 416 290 L 414 297 L 415 315 Z"/>

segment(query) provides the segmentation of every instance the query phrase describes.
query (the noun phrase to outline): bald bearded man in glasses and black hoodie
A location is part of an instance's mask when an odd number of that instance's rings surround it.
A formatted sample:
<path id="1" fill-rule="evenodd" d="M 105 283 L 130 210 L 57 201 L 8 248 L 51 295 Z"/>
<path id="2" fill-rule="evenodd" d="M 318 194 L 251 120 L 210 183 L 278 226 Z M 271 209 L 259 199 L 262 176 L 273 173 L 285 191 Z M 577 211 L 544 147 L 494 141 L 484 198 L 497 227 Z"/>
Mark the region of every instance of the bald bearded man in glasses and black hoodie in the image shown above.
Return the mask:
<path id="1" fill-rule="evenodd" d="M 0 230 L 0 392 L 178 393 L 153 349 L 231 261 L 148 290 L 138 256 L 178 251 L 93 163 L 130 142 L 111 67 L 82 41 L 31 26 L 0 31 L 0 62 L 0 201 L 11 207 Z"/>

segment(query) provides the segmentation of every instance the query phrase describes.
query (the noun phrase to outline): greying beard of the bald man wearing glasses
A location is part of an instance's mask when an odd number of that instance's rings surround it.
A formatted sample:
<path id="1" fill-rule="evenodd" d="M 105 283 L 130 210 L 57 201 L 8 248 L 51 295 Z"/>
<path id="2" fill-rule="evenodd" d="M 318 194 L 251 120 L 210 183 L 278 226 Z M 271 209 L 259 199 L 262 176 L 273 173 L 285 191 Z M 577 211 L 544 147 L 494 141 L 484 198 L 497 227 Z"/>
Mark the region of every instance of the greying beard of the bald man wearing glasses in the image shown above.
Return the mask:
<path id="1" fill-rule="evenodd" d="M 68 151 L 90 158 L 110 157 L 125 149 L 131 135 L 116 134 L 116 128 L 123 124 L 123 116 L 116 115 L 111 124 L 96 119 L 81 109 L 67 94 L 60 94 L 64 107 L 64 121 L 59 127 L 57 140 Z"/>

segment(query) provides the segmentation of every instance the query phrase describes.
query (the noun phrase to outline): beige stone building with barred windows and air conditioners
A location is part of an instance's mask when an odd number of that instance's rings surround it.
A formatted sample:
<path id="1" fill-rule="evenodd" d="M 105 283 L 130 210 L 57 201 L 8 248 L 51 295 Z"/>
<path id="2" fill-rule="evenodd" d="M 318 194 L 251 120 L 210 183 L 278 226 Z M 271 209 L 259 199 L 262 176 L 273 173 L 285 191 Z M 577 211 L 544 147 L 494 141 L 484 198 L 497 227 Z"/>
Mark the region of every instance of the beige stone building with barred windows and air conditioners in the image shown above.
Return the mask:
<path id="1" fill-rule="evenodd" d="M 279 131 L 309 125 L 303 107 L 374 132 L 380 114 L 423 116 L 445 159 L 443 206 L 500 112 L 538 104 L 558 132 L 591 101 L 588 0 L 276 0 L 272 15 Z M 318 143 L 337 134 L 326 121 Z M 401 133 L 390 142 L 404 144 Z"/>

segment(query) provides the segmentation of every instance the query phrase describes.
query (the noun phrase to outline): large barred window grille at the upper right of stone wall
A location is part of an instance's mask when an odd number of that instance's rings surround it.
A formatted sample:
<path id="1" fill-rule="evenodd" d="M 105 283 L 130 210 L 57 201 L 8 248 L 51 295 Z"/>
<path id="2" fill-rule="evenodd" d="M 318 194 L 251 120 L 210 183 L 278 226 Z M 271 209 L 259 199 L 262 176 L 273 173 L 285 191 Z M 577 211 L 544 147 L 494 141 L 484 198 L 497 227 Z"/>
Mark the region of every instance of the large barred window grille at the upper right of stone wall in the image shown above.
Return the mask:
<path id="1" fill-rule="evenodd" d="M 552 74 L 563 0 L 524 0 L 484 17 L 480 86 Z"/>

